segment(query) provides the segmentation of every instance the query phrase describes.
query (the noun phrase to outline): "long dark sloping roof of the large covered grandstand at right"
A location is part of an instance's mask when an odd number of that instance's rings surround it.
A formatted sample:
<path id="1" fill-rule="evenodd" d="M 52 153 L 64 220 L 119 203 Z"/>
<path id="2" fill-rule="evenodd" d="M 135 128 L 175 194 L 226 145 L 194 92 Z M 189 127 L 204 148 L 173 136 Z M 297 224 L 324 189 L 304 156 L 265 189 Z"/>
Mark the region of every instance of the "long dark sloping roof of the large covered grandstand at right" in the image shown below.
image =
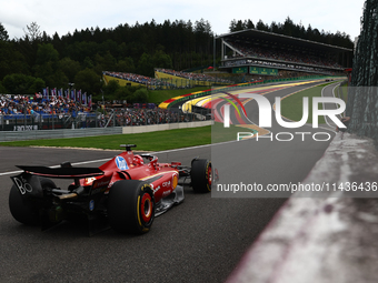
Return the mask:
<path id="1" fill-rule="evenodd" d="M 315 42 L 310 40 L 305 40 L 305 39 L 298 39 L 298 38 L 292 38 L 288 36 L 282 36 L 278 33 L 272 33 L 272 32 L 267 32 L 267 31 L 261 31 L 261 30 L 255 30 L 255 29 L 249 29 L 249 30 L 241 30 L 241 31 L 235 31 L 230 33 L 225 33 L 220 34 L 217 37 L 217 39 L 220 38 L 229 38 L 232 40 L 242 40 L 248 42 L 249 40 L 251 42 L 256 41 L 261 41 L 261 42 L 277 42 L 281 44 L 287 44 L 287 46 L 296 46 L 296 47 L 302 47 L 302 48 L 308 48 L 308 49 L 317 49 L 317 50 L 322 50 L 327 52 L 352 52 L 352 49 L 348 48 L 342 48 L 342 47 L 336 47 L 336 46 L 330 46 L 330 44 L 325 44 L 320 42 Z"/>

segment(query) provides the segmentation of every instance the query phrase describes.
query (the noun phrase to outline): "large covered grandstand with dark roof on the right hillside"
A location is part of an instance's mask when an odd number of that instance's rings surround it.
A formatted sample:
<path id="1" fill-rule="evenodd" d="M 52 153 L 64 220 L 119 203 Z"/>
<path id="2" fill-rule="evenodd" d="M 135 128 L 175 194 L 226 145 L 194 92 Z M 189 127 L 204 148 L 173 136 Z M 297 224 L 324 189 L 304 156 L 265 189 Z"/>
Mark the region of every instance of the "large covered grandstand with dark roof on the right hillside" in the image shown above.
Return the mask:
<path id="1" fill-rule="evenodd" d="M 257 75 L 340 75 L 352 50 L 255 29 L 219 36 L 220 70 Z"/>

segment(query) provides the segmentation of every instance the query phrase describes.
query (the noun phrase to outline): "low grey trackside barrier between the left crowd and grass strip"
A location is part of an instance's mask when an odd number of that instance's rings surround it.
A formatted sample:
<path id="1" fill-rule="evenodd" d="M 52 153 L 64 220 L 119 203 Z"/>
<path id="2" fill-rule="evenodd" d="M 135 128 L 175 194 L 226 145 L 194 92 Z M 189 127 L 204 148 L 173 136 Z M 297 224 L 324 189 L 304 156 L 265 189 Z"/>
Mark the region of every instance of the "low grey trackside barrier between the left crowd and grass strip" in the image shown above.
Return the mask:
<path id="1" fill-rule="evenodd" d="M 63 139 L 63 138 L 82 138 L 106 134 L 127 134 L 165 131 L 173 129 L 186 129 L 210 125 L 211 120 L 187 122 L 187 123 L 167 123 L 152 125 L 135 127 L 112 127 L 112 128 L 87 128 L 87 129 L 63 129 L 63 130 L 37 130 L 37 131 L 1 131 L 0 142 L 22 141 L 22 140 L 43 140 L 43 139 Z"/>

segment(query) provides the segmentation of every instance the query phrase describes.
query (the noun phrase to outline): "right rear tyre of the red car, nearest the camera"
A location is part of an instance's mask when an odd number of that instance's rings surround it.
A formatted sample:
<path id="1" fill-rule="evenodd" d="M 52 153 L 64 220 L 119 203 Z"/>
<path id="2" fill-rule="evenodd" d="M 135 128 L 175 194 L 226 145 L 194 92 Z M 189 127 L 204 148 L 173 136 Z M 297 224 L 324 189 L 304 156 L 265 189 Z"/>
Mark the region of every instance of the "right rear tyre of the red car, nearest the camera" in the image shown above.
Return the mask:
<path id="1" fill-rule="evenodd" d="M 117 232 L 149 232 L 155 219 L 155 209 L 153 191 L 148 183 L 137 180 L 118 181 L 109 191 L 109 223 Z"/>

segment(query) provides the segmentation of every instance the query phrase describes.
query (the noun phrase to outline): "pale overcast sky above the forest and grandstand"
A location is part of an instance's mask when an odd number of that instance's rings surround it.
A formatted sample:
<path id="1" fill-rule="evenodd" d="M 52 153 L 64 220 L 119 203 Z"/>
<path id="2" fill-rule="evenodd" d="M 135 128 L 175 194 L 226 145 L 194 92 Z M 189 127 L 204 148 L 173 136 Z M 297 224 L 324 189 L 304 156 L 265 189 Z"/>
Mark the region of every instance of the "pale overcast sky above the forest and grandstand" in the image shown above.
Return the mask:
<path id="1" fill-rule="evenodd" d="M 260 19 L 270 24 L 285 22 L 287 17 L 305 28 L 336 33 L 346 32 L 351 40 L 359 36 L 360 18 L 365 0 L 0 0 L 0 22 L 9 38 L 24 36 L 26 27 L 37 22 L 48 36 L 64 36 L 74 29 L 109 29 L 119 24 L 133 26 L 165 20 L 190 20 L 201 18 L 211 24 L 216 34 L 229 32 L 232 19 Z"/>

